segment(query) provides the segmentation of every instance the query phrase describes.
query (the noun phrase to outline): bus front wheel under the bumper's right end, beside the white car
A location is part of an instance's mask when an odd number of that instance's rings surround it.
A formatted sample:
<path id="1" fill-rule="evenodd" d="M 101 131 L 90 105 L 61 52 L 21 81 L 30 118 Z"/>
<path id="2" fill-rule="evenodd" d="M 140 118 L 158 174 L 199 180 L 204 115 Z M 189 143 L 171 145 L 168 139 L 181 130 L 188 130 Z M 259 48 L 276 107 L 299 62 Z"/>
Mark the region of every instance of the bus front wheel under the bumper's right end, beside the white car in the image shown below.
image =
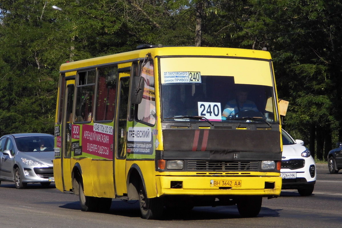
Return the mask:
<path id="1" fill-rule="evenodd" d="M 251 196 L 237 199 L 237 209 L 242 217 L 255 217 L 261 209 L 262 197 Z"/>

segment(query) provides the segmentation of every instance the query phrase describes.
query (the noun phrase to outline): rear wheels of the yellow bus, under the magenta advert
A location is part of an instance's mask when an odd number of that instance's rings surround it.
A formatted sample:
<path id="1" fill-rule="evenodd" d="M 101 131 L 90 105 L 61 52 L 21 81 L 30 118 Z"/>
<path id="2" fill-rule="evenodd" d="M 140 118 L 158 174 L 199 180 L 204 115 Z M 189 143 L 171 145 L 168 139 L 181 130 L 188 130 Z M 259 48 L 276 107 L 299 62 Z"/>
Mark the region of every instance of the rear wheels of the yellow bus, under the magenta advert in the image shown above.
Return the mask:
<path id="1" fill-rule="evenodd" d="M 110 209 L 111 198 L 100 198 L 85 196 L 83 192 L 83 182 L 79 182 L 79 199 L 82 211 L 105 212 Z"/>

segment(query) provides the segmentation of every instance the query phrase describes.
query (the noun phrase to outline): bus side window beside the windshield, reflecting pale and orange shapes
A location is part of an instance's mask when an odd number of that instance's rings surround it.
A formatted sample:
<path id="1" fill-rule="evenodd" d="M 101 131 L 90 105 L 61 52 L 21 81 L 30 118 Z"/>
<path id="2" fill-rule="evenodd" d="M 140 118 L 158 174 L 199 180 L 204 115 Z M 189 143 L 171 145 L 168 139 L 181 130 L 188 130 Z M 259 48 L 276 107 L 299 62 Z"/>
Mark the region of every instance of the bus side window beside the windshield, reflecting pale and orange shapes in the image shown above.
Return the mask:
<path id="1" fill-rule="evenodd" d="M 145 80 L 144 94 L 141 103 L 136 111 L 136 118 L 149 125 L 156 123 L 156 96 L 154 89 L 154 66 L 153 61 L 149 61 L 142 70 L 142 78 Z"/>

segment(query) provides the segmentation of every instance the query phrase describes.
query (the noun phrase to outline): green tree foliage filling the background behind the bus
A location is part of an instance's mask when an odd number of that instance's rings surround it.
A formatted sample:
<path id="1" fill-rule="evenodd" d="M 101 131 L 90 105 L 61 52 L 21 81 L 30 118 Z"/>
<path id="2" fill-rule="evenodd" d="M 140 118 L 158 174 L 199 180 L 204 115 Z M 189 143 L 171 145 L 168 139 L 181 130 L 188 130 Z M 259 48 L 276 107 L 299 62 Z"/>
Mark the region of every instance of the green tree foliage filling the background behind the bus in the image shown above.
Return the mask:
<path id="1" fill-rule="evenodd" d="M 325 157 L 342 140 L 336 0 L 3 0 L 0 133 L 52 132 L 66 61 L 143 43 L 194 45 L 199 5 L 202 46 L 271 52 L 279 97 L 290 102 L 284 127 Z"/>

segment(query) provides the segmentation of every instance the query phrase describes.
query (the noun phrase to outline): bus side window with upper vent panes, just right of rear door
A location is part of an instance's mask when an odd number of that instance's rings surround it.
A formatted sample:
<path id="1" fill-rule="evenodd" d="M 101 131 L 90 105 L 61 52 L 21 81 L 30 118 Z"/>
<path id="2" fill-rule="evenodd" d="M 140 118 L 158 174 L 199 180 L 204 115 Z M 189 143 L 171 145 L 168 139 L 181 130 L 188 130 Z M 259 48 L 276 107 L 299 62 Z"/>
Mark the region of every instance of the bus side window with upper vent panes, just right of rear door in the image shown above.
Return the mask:
<path id="1" fill-rule="evenodd" d="M 78 72 L 74 122 L 90 122 L 95 88 L 95 70 Z"/>

